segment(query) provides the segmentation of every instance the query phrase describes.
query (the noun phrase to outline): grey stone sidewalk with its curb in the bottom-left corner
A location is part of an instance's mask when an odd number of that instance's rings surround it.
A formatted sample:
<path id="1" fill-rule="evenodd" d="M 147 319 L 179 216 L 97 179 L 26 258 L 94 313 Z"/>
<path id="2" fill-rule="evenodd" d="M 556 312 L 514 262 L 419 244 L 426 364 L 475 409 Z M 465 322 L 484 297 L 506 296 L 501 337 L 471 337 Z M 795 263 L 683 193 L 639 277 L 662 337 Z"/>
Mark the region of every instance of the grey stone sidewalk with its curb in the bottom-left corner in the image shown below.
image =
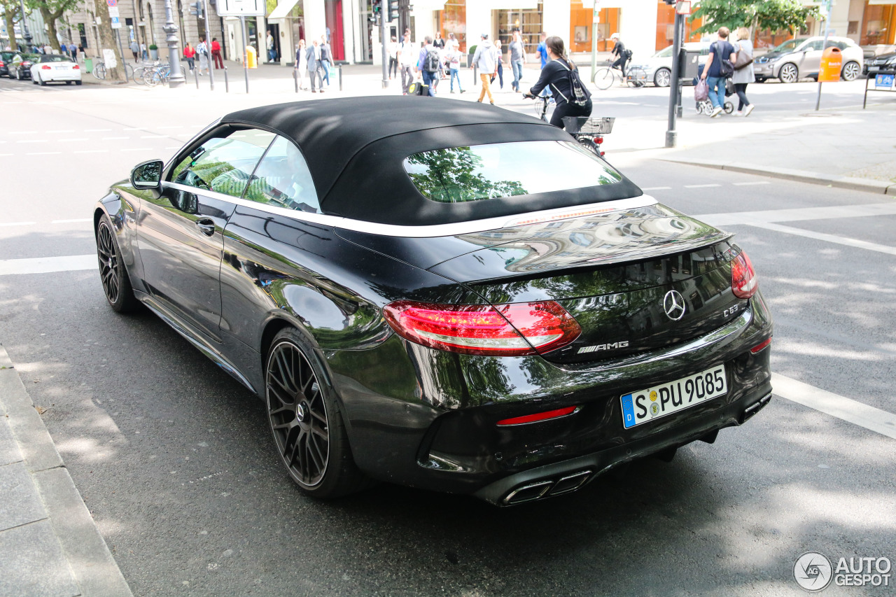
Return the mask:
<path id="1" fill-rule="evenodd" d="M 2 345 L 0 595 L 131 595 Z"/>

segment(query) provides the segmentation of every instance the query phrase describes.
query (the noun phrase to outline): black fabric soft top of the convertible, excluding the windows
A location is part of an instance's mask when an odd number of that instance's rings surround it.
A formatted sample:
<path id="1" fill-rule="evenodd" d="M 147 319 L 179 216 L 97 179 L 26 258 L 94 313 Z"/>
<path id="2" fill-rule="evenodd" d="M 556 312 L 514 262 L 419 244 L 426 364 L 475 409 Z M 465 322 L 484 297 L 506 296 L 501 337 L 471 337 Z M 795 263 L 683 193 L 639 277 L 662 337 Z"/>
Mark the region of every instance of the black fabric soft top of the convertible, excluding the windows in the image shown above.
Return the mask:
<path id="1" fill-rule="evenodd" d="M 321 99 L 233 112 L 222 123 L 267 128 L 305 155 L 323 212 L 401 225 L 443 224 L 642 195 L 628 179 L 590 192 L 436 203 L 402 167 L 419 151 L 513 141 L 570 141 L 534 117 L 491 105 L 425 97 Z M 544 195 L 544 196 L 542 196 Z"/>

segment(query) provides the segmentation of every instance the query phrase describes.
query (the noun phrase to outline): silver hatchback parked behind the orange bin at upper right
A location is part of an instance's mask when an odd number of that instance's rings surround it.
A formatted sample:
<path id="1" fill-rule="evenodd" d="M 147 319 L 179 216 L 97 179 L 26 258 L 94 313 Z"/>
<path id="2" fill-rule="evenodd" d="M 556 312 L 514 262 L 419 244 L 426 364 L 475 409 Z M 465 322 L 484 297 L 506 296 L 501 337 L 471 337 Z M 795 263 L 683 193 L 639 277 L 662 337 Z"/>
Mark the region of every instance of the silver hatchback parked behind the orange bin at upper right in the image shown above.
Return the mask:
<path id="1" fill-rule="evenodd" d="M 811 77 L 818 79 L 822 64 L 823 37 L 788 39 L 777 48 L 754 60 L 756 82 L 780 79 L 781 82 L 797 82 Z M 864 56 L 862 48 L 849 38 L 828 38 L 827 48 L 840 48 L 843 65 L 840 77 L 854 81 L 862 73 Z"/>

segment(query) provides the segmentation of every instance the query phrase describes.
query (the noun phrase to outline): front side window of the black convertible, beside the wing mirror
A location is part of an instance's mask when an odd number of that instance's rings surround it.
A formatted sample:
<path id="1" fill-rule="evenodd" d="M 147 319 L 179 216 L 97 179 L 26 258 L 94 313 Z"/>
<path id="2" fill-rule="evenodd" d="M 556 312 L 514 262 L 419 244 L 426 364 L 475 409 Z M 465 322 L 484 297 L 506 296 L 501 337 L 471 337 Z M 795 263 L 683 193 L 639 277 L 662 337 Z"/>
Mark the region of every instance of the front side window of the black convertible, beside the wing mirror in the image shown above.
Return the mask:
<path id="1" fill-rule="evenodd" d="M 254 128 L 213 136 L 177 164 L 172 180 L 239 197 L 274 136 Z"/>

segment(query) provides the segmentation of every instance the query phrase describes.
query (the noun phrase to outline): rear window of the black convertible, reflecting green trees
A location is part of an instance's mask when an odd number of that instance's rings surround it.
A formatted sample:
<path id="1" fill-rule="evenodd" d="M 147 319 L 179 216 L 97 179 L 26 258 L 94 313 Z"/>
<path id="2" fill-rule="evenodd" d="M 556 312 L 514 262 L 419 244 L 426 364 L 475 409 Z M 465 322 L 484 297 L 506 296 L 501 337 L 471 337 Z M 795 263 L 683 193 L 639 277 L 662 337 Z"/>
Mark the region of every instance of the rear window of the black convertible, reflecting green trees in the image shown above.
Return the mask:
<path id="1" fill-rule="evenodd" d="M 579 143 L 489 143 L 415 153 L 404 169 L 421 195 L 439 203 L 611 185 L 622 176 Z"/>

